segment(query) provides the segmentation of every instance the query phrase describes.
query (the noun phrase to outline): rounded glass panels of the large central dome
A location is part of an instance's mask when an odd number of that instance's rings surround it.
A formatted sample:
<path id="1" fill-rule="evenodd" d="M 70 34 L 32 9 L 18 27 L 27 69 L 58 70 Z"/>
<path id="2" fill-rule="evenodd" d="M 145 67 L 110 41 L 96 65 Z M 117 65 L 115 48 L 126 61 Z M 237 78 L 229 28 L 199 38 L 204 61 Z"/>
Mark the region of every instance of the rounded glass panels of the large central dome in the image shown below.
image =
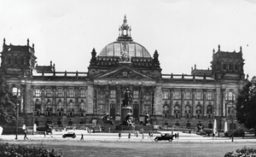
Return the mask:
<path id="1" fill-rule="evenodd" d="M 114 57 L 120 56 L 123 50 L 130 55 L 130 57 L 143 57 L 150 58 L 151 56 L 148 53 L 148 50 L 143 47 L 141 44 L 137 44 L 135 42 L 121 42 L 116 41 L 102 49 L 101 53 L 98 56 L 107 56 Z"/>

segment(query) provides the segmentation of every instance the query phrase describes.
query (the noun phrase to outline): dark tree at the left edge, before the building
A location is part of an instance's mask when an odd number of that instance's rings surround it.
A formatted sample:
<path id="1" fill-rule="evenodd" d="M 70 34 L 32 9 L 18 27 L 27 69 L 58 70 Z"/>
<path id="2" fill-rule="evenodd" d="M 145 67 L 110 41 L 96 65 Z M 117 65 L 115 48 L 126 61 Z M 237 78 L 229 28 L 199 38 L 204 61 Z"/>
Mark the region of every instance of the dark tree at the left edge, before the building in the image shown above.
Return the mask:
<path id="1" fill-rule="evenodd" d="M 2 75 L 0 77 L 0 125 L 13 124 L 18 101 L 18 97 L 12 94 Z"/>

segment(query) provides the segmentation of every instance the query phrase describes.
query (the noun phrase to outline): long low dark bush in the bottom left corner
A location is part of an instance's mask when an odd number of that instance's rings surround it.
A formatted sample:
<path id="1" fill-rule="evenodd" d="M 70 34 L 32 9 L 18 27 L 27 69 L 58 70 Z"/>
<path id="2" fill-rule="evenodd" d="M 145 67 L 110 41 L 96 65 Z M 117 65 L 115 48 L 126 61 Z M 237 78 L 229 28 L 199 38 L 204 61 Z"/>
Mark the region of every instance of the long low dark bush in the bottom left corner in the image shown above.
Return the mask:
<path id="1" fill-rule="evenodd" d="M 8 142 L 0 144 L 0 156 L 1 157 L 62 157 L 61 153 L 55 152 L 55 149 L 52 151 L 47 150 L 43 147 L 33 147 L 28 148 L 26 146 L 15 146 L 15 144 L 9 145 Z"/>

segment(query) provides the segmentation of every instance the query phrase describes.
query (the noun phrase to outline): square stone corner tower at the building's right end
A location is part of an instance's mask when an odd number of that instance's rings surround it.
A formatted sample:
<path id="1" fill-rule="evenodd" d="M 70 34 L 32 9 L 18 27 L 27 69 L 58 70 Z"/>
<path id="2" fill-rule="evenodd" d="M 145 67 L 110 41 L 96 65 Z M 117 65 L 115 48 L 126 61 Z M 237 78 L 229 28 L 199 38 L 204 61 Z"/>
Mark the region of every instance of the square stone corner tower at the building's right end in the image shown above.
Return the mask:
<path id="1" fill-rule="evenodd" d="M 227 80 L 242 80 L 244 79 L 243 65 L 244 60 L 242 58 L 242 50 L 236 52 L 224 52 L 220 50 L 218 45 L 218 51 L 213 49 L 212 54 L 212 77 L 216 79 Z"/>

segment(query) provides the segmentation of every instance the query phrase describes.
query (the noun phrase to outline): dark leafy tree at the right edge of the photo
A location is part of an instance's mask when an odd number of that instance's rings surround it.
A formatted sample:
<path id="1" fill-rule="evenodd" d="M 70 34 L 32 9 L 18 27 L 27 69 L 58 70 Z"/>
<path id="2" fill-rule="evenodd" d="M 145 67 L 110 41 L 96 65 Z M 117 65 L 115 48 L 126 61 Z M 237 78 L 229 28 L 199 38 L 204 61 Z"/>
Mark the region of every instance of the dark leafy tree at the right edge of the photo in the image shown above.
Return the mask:
<path id="1" fill-rule="evenodd" d="M 236 119 L 256 136 L 256 78 L 248 81 L 240 91 L 236 104 Z"/>

